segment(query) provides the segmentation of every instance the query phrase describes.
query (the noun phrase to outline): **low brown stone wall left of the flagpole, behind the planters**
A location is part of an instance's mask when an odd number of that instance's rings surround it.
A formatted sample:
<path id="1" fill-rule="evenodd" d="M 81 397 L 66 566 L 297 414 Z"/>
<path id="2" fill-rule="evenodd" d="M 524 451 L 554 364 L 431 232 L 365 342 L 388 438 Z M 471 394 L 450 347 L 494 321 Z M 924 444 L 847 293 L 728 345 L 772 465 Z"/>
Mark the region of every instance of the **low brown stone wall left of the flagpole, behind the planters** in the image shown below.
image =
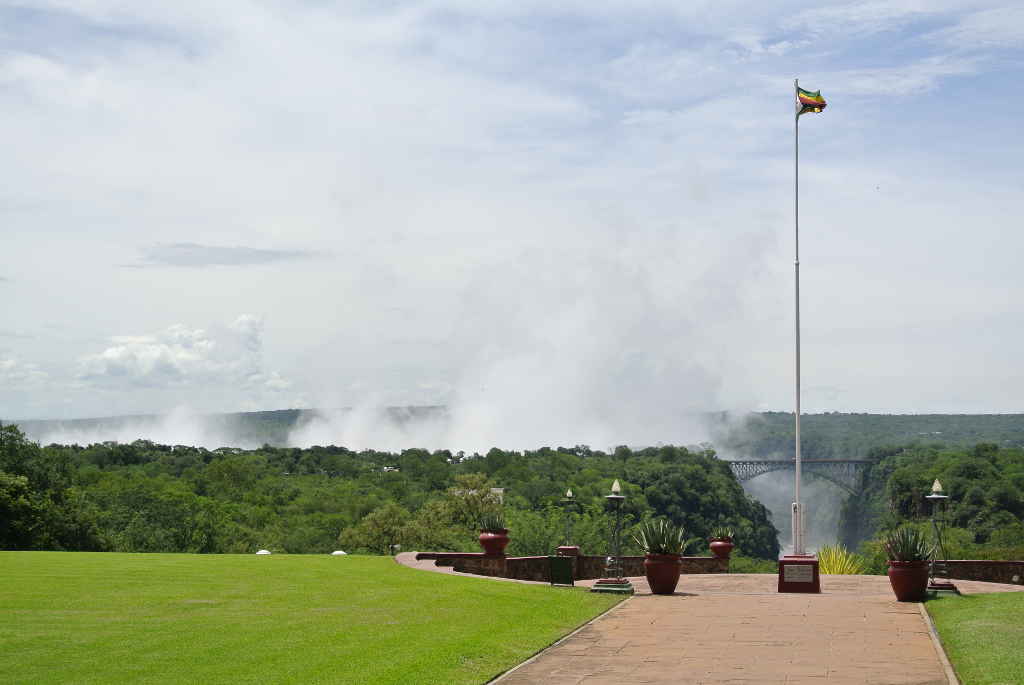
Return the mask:
<path id="1" fill-rule="evenodd" d="M 452 566 L 460 573 L 497 575 L 518 581 L 550 583 L 548 557 L 487 556 L 468 552 L 420 552 L 417 559 L 433 559 L 438 566 Z M 607 557 L 580 555 L 575 557 L 573 577 L 590 581 L 604 576 Z M 643 557 L 623 557 L 623 574 L 643 575 Z M 715 557 L 683 557 L 684 573 L 728 573 L 729 560 Z"/>

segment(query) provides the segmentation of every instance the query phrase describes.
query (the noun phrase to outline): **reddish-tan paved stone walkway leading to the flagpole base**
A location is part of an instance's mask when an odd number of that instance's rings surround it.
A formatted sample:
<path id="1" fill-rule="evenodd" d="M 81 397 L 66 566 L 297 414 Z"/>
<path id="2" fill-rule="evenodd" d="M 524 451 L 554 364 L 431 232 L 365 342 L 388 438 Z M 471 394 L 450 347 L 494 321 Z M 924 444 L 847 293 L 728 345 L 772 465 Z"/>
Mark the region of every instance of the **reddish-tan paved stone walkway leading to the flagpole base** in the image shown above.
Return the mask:
<path id="1" fill-rule="evenodd" d="M 398 561 L 452 572 L 409 557 Z M 949 682 L 920 605 L 897 602 L 884 575 L 823 575 L 820 595 L 779 594 L 771 574 L 683 575 L 671 597 L 651 595 L 642 577 L 632 581 L 633 598 L 496 682 Z M 954 583 L 964 594 L 1024 591 Z"/>

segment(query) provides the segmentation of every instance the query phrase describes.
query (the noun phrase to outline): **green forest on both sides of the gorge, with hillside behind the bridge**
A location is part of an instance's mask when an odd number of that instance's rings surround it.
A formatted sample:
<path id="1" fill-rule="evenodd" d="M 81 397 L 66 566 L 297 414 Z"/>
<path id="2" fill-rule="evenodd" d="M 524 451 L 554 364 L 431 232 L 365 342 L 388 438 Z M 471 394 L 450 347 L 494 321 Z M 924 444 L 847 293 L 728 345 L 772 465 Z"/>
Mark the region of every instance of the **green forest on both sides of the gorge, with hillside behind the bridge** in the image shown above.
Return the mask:
<path id="1" fill-rule="evenodd" d="M 940 419 L 948 419 L 943 422 Z M 977 417 L 975 417 L 977 418 Z M 722 419 L 727 454 L 787 458 L 792 415 Z M 950 558 L 1024 558 L 1024 447 L 1020 417 L 809 417 L 804 454 L 868 459 L 860 494 L 842 504 L 838 538 L 884 566 L 878 540 L 929 524 L 925 496 L 950 496 Z M 927 430 L 922 430 L 922 429 Z M 971 441 L 982 437 L 998 441 Z M 888 441 L 889 438 L 899 438 Z M 939 438 L 947 438 L 943 443 Z M 265 444 L 256 449 L 102 442 L 41 446 L 16 426 L 0 429 L 0 548 L 131 552 L 387 553 L 475 551 L 479 502 L 500 488 L 510 554 L 548 554 L 566 542 L 560 506 L 571 488 L 572 537 L 604 554 L 611 519 L 604 496 L 623 483 L 627 526 L 667 517 L 691 554 L 711 528 L 729 525 L 745 556 L 774 559 L 776 526 L 709 445 L 609 452 L 585 445 L 467 455 L 354 452 Z M 741 452 L 740 452 L 741 451 Z M 837 501 L 839 502 L 839 501 Z M 812 512 L 813 515 L 813 512 Z M 624 536 L 632 540 L 629 531 Z M 627 548 L 635 553 L 635 548 Z"/>

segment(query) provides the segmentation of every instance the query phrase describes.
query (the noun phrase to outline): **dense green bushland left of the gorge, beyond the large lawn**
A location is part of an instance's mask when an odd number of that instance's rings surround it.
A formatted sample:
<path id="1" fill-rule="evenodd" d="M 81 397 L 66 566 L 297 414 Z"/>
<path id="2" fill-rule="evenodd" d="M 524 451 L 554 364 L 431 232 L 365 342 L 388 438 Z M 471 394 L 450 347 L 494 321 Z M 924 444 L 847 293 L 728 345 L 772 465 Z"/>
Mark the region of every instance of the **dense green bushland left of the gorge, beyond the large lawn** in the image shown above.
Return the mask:
<path id="1" fill-rule="evenodd" d="M 572 542 L 603 554 L 611 525 L 604 496 L 617 478 L 627 526 L 665 516 L 702 541 L 713 526 L 728 524 L 744 554 L 778 553 L 767 510 L 710 447 L 208 451 L 145 440 L 40 446 L 15 426 L 0 434 L 3 549 L 476 550 L 476 517 L 497 487 L 504 488 L 508 551 L 547 554 L 564 542 L 558 502 L 571 487 L 579 503 Z M 624 540 L 631 541 L 628 532 Z"/>

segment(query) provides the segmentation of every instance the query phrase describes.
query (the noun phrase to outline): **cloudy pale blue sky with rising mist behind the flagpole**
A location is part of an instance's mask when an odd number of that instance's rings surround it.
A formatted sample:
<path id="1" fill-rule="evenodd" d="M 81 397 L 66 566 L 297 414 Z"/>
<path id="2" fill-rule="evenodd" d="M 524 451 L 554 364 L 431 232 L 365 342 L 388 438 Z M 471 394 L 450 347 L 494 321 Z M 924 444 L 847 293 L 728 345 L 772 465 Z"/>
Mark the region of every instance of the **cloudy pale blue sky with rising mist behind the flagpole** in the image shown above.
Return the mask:
<path id="1" fill-rule="evenodd" d="M 1024 412 L 1024 7 L 0 0 L 0 417 Z"/>

